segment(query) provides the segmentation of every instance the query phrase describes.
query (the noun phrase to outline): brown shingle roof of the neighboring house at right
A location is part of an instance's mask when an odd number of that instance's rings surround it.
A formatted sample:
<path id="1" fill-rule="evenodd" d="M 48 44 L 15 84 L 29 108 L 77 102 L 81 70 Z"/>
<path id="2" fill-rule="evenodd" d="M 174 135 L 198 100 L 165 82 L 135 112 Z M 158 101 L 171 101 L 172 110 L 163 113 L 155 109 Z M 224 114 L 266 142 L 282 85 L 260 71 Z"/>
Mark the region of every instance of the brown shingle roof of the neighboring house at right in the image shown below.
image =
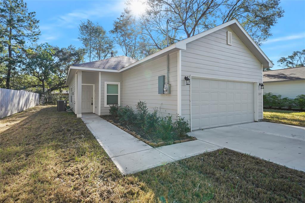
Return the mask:
<path id="1" fill-rule="evenodd" d="M 264 82 L 283 81 L 283 80 L 304 80 L 305 66 L 295 68 L 285 68 L 269 70 L 263 72 Z"/>

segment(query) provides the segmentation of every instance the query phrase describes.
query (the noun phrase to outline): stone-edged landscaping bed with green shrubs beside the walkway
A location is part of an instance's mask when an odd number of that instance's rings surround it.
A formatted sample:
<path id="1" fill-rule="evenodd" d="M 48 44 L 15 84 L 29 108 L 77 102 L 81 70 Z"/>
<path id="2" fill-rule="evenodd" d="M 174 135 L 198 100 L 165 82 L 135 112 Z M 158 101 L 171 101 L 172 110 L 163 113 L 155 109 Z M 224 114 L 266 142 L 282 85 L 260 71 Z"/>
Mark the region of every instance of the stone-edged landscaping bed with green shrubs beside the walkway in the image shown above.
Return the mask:
<path id="1" fill-rule="evenodd" d="M 188 136 L 188 121 L 181 116 L 175 119 L 170 115 L 162 117 L 158 109 L 149 112 L 146 103 L 141 101 L 136 109 L 137 112 L 129 106 L 112 105 L 109 115 L 101 117 L 152 147 L 197 140 Z"/>

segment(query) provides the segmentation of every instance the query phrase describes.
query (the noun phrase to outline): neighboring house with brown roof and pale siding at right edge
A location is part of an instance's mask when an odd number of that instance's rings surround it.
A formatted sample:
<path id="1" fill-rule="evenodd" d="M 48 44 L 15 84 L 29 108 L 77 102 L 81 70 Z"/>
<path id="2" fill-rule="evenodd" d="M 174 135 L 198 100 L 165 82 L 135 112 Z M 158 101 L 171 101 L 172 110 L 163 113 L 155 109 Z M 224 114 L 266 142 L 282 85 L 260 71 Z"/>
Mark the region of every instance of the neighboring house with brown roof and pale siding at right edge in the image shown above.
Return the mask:
<path id="1" fill-rule="evenodd" d="M 305 94 L 305 66 L 264 71 L 263 75 L 264 93 L 292 99 Z"/>

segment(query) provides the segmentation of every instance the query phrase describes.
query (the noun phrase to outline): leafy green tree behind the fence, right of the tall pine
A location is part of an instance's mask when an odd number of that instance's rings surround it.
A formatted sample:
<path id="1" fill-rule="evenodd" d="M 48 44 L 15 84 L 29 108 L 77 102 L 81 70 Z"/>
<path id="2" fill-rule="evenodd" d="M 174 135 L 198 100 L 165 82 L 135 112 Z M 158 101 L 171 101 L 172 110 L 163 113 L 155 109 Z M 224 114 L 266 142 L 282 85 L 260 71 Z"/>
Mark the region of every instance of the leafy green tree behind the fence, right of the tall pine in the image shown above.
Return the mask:
<path id="1" fill-rule="evenodd" d="M 42 93 L 45 93 L 55 69 L 54 54 L 55 50 L 47 43 L 26 50 L 22 70 L 39 81 L 31 81 L 28 87 L 41 87 Z"/>

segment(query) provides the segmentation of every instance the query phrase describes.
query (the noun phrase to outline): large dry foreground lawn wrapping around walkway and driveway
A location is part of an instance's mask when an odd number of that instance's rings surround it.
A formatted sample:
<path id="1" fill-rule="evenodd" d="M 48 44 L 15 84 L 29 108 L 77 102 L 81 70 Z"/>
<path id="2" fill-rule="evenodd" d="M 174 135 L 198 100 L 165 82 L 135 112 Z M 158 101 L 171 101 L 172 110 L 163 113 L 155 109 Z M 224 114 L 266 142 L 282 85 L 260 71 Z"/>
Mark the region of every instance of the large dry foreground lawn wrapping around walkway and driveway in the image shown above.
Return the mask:
<path id="1" fill-rule="evenodd" d="M 305 173 L 228 149 L 122 176 L 81 119 L 0 120 L 0 202 L 304 202 Z"/>

